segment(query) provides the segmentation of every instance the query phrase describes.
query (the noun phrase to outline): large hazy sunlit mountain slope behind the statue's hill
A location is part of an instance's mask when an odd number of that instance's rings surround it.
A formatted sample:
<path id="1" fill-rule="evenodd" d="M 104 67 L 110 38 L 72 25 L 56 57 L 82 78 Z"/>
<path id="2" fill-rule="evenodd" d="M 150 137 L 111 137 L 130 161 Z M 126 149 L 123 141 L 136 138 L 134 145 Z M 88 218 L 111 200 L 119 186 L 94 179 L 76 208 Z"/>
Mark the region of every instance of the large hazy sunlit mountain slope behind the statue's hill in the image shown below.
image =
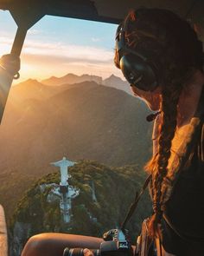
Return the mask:
<path id="1" fill-rule="evenodd" d="M 63 155 L 111 166 L 147 161 L 151 125 L 143 102 L 95 82 L 47 89 L 46 96 L 19 102 L 10 96 L 0 127 L 3 172 L 46 174 Z"/>

